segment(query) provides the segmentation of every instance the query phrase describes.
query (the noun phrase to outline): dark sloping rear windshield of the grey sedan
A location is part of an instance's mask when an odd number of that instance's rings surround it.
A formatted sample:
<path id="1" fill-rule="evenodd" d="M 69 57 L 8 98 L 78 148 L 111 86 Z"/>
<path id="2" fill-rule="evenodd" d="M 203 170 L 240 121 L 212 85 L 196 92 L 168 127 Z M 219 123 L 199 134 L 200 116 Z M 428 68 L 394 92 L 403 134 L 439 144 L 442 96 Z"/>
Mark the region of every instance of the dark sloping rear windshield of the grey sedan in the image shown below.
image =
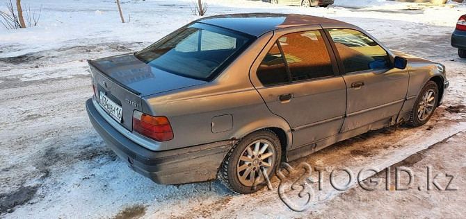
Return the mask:
<path id="1" fill-rule="evenodd" d="M 135 55 L 157 69 L 209 81 L 246 49 L 253 38 L 196 23 L 170 33 Z"/>

